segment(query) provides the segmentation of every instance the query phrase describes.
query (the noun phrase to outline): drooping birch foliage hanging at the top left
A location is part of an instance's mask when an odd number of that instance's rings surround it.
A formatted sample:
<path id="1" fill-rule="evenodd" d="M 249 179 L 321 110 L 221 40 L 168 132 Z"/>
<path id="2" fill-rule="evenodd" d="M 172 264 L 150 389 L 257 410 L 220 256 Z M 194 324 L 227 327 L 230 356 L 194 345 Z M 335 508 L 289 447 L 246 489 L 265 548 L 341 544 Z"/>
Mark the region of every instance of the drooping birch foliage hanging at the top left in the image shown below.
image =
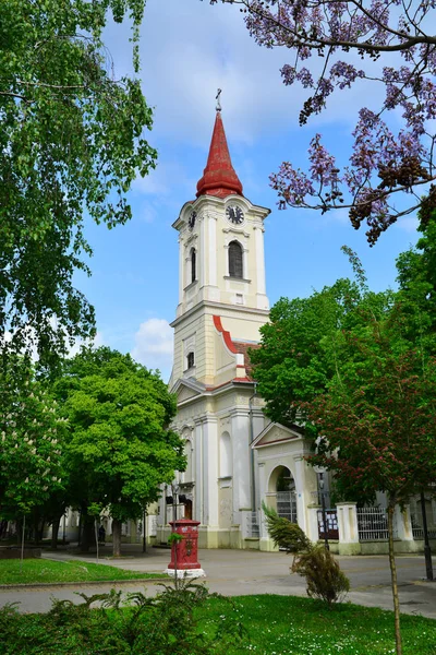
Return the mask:
<path id="1" fill-rule="evenodd" d="M 84 216 L 131 217 L 126 191 L 155 166 L 137 38 L 145 0 L 0 2 L 0 346 L 50 360 L 94 333 L 74 288 Z M 117 79 L 101 34 L 128 15 L 134 76 Z"/>

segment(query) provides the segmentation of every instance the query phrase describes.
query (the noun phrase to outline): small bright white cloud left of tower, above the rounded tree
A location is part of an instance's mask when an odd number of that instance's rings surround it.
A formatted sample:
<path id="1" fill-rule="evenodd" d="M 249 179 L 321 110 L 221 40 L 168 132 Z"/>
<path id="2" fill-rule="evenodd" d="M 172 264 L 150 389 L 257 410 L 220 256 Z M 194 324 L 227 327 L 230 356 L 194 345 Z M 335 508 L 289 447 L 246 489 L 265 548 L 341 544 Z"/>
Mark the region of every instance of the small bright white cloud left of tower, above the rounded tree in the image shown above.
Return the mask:
<path id="1" fill-rule="evenodd" d="M 167 380 L 172 365 L 172 327 L 168 321 L 154 318 L 141 323 L 131 355 L 147 368 L 159 369 Z"/>

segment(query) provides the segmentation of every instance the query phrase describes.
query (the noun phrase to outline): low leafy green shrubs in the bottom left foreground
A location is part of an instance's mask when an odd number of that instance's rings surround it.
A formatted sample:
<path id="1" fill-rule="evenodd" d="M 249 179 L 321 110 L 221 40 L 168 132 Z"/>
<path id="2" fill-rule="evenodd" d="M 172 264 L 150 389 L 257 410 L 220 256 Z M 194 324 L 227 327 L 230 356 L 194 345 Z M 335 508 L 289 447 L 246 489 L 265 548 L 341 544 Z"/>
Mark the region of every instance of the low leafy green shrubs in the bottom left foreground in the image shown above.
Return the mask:
<path id="1" fill-rule="evenodd" d="M 0 654 L 225 655 L 240 643 L 243 629 L 232 600 L 222 598 L 229 606 L 227 621 L 205 620 L 208 599 L 217 594 L 183 579 L 162 586 L 153 598 L 141 593 L 123 597 L 114 590 L 78 594 L 83 603 L 55 600 L 47 615 L 22 616 L 7 606 L 0 609 Z"/>

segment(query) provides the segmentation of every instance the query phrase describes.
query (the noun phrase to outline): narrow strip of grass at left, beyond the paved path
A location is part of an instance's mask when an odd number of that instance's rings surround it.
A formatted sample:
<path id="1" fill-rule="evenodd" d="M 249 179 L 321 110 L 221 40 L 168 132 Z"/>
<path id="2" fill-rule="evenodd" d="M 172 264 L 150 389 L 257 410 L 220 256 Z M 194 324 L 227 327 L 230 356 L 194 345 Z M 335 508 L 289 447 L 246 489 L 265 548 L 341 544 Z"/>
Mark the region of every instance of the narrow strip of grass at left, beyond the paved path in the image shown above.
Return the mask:
<path id="1" fill-rule="evenodd" d="M 93 564 L 77 560 L 59 562 L 48 559 L 25 559 L 20 572 L 20 560 L 0 560 L 0 584 L 31 584 L 49 582 L 98 582 L 101 580 L 136 580 L 162 577 L 162 573 L 124 571 L 117 567 Z"/>

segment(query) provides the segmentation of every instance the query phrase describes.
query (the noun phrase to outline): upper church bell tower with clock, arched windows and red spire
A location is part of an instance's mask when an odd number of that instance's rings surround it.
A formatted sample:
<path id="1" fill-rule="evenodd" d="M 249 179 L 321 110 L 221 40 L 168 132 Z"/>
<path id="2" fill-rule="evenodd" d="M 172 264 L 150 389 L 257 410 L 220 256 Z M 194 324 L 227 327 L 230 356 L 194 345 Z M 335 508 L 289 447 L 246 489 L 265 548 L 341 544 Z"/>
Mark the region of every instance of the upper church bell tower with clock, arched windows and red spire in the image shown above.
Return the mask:
<path id="1" fill-rule="evenodd" d="M 222 362 L 215 348 L 217 318 L 222 333 L 232 340 L 258 342 L 269 309 L 264 263 L 268 214 L 269 210 L 243 195 L 218 104 L 196 200 L 183 205 L 173 224 L 179 233 L 179 305 L 172 323 L 172 384 L 182 378 L 206 386 L 221 383 Z"/>

